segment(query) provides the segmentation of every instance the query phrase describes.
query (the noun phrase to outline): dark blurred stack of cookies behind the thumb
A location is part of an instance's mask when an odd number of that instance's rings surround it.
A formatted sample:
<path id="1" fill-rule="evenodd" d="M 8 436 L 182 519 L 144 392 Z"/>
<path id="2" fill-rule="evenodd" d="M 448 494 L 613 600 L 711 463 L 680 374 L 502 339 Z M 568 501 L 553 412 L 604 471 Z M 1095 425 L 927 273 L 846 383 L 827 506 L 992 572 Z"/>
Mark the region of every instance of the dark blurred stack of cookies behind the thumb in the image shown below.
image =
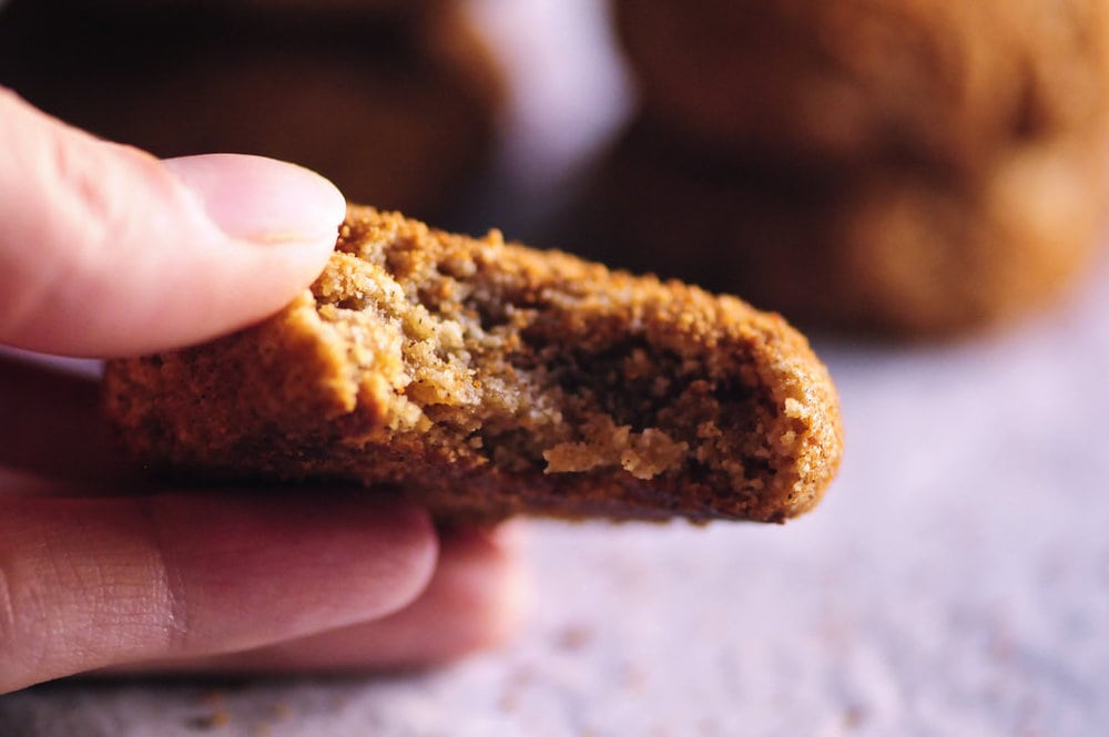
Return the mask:
<path id="1" fill-rule="evenodd" d="M 425 216 L 495 140 L 499 70 L 454 0 L 10 0 L 0 84 L 159 156 L 295 161 Z"/>

